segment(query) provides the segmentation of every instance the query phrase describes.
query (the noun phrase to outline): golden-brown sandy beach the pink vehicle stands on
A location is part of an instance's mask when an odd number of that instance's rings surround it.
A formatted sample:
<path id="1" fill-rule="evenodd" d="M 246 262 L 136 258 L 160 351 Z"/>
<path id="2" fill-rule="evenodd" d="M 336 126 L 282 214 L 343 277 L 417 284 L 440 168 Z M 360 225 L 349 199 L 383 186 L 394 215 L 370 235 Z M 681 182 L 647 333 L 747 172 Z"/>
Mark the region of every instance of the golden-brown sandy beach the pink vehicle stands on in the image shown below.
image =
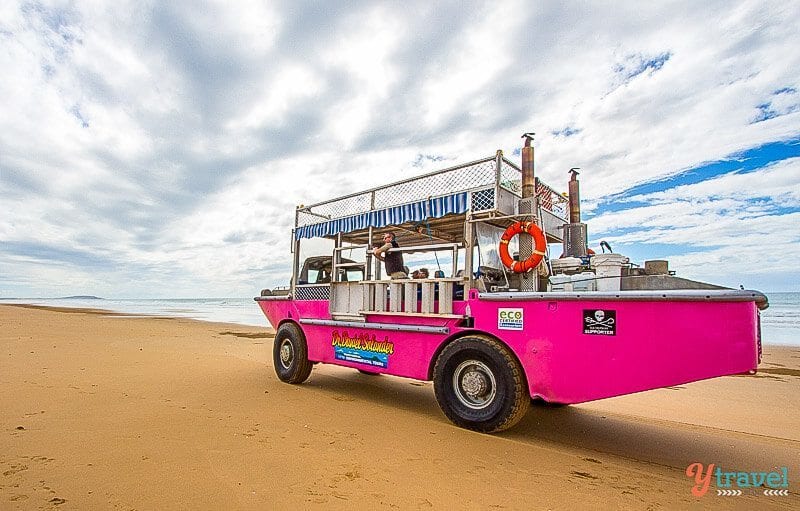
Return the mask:
<path id="1" fill-rule="evenodd" d="M 266 327 L 0 306 L 0 509 L 800 505 L 800 348 L 491 436 L 448 422 L 427 382 L 317 365 L 283 384 L 271 350 Z M 786 468 L 791 493 L 696 497 L 695 462 Z"/>

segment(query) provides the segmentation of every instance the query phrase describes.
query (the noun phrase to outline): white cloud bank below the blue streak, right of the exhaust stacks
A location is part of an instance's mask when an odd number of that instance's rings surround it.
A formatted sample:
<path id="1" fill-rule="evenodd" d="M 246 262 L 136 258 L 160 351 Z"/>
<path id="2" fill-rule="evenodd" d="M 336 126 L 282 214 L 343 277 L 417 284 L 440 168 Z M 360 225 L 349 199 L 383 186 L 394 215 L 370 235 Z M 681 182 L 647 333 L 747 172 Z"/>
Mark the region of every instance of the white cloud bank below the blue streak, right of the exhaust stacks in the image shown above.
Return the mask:
<path id="1" fill-rule="evenodd" d="M 627 202 L 635 205 L 593 218 L 591 237 L 622 252 L 636 244 L 674 247 L 671 267 L 689 278 L 730 286 L 743 280 L 783 289 L 800 285 L 791 255 L 800 246 L 800 158 Z"/>

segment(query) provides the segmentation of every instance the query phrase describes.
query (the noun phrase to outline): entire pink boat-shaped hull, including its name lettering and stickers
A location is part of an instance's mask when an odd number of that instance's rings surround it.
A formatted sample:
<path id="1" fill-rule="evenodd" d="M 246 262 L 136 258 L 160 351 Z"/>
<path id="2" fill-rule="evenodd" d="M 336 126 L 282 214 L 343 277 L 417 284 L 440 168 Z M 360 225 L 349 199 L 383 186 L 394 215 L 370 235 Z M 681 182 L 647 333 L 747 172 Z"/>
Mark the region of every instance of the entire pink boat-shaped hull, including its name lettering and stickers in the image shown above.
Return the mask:
<path id="1" fill-rule="evenodd" d="M 419 380 L 431 379 L 448 342 L 490 335 L 517 357 L 530 395 L 549 402 L 581 403 L 757 369 L 756 301 L 590 295 L 473 291 L 453 302 L 452 317 L 368 314 L 363 325 L 335 321 L 327 300 L 257 301 L 273 327 L 300 325 L 313 362 Z"/>

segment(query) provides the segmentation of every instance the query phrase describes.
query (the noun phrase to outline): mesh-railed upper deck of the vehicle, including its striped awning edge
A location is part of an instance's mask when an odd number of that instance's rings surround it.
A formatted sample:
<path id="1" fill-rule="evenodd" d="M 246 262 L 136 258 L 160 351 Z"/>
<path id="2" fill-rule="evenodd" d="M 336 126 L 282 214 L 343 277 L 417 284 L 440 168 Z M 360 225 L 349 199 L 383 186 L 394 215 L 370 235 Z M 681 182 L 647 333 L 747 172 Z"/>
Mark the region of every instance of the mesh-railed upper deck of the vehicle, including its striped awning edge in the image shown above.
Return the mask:
<path id="1" fill-rule="evenodd" d="M 522 171 L 498 151 L 495 156 L 449 167 L 385 186 L 297 208 L 295 239 L 336 238 L 368 244 L 370 228 L 406 231 L 414 244 L 436 238 L 463 239 L 467 218 L 507 219 L 518 215 Z M 536 179 L 537 217 L 549 241 L 561 241 L 567 199 Z M 421 227 L 421 228 L 420 228 Z M 409 239 L 409 237 L 411 239 Z"/>

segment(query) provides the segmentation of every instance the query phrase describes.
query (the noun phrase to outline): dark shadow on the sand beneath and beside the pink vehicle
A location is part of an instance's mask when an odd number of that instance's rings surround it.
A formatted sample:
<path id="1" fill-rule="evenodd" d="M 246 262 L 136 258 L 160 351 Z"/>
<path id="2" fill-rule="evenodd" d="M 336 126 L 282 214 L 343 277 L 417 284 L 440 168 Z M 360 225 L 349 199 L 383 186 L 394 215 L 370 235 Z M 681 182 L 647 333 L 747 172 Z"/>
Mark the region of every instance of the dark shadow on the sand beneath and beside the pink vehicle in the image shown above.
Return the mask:
<path id="1" fill-rule="evenodd" d="M 345 396 L 348 401 L 380 404 L 449 424 L 439 410 L 430 382 L 336 368 L 333 373 L 312 373 L 305 385 L 334 394 L 334 399 Z M 533 404 L 519 424 L 495 436 L 583 457 L 620 456 L 681 470 L 697 461 L 731 469 L 786 466 L 793 473 L 800 470 L 800 445 L 794 441 L 684 424 L 677 417 L 675 421 L 664 421 L 600 412 L 581 405 Z"/>

